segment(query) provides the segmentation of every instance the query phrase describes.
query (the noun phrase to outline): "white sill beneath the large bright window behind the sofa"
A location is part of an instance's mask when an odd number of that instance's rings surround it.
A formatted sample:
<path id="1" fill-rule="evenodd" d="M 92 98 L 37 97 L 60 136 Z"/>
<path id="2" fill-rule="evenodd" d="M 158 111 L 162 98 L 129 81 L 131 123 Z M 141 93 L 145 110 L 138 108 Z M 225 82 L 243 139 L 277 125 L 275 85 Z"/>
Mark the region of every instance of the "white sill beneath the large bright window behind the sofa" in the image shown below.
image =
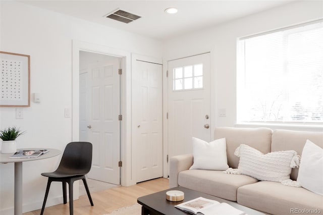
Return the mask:
<path id="1" fill-rule="evenodd" d="M 295 131 L 310 131 L 310 132 L 323 132 L 323 124 L 296 124 L 296 123 L 249 123 L 239 122 L 235 124 L 239 128 L 259 128 L 266 127 L 270 129 L 286 129 Z"/>

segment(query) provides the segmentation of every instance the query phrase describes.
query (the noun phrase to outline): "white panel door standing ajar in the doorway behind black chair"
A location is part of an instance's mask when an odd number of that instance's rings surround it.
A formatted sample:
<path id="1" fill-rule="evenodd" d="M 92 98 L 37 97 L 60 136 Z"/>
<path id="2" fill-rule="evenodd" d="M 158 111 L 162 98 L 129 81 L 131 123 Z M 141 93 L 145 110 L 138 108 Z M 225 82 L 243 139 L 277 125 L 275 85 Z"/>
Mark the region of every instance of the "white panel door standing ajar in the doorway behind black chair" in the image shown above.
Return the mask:
<path id="1" fill-rule="evenodd" d="M 119 62 L 92 63 L 80 74 L 80 141 L 93 145 L 88 178 L 113 184 L 120 184 Z"/>

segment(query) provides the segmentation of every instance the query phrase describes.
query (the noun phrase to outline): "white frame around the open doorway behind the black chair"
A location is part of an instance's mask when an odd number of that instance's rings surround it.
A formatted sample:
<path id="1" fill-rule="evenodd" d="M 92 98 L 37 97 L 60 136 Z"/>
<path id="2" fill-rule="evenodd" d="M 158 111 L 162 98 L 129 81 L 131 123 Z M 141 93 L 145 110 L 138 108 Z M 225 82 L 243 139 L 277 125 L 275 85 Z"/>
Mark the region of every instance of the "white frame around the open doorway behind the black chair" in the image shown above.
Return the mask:
<path id="1" fill-rule="evenodd" d="M 123 74 L 120 83 L 120 109 L 123 115 L 120 129 L 120 159 L 123 166 L 120 170 L 120 177 L 122 186 L 133 185 L 135 180 L 132 176 L 133 167 L 131 165 L 131 119 L 127 119 L 127 116 L 131 116 L 131 53 L 109 46 L 72 40 L 72 141 L 79 141 L 79 51 L 96 52 L 123 58 Z M 127 71 L 129 71 L 129 74 Z"/>

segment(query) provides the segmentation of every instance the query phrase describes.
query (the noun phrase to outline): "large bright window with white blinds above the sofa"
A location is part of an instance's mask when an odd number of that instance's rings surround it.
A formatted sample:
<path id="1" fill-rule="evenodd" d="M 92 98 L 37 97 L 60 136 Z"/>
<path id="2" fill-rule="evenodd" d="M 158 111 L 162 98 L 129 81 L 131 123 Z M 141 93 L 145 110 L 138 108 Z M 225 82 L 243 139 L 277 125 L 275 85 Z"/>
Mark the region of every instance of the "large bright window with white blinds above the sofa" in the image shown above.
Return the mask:
<path id="1" fill-rule="evenodd" d="M 322 20 L 241 38 L 238 122 L 323 122 Z"/>

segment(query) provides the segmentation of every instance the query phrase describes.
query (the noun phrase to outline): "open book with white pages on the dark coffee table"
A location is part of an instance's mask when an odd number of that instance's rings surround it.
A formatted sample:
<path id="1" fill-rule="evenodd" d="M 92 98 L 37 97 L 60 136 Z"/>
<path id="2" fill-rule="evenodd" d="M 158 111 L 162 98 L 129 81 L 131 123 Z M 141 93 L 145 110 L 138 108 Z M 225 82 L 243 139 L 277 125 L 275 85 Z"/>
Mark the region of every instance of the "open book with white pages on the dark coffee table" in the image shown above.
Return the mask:
<path id="1" fill-rule="evenodd" d="M 198 215 L 243 215 L 246 214 L 242 210 L 231 206 L 225 202 L 218 202 L 216 200 L 211 200 L 203 197 L 198 197 L 187 202 L 175 205 L 175 207 L 192 214 Z"/>

